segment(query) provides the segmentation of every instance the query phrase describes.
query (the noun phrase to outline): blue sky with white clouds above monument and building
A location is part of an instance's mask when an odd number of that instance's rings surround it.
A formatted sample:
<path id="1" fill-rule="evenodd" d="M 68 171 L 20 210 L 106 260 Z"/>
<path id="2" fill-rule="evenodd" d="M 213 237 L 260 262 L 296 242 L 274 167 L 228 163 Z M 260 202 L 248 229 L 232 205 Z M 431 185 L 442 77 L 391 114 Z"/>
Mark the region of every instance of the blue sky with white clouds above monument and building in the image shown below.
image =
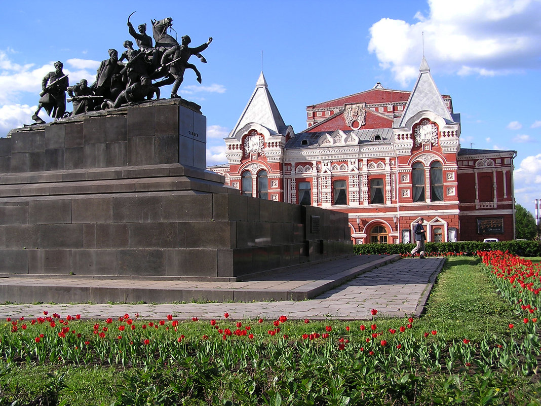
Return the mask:
<path id="1" fill-rule="evenodd" d="M 173 18 L 203 83 L 187 71 L 180 94 L 207 116 L 207 163 L 225 162 L 223 137 L 261 71 L 286 124 L 306 128 L 306 106 L 370 89 L 411 90 L 423 56 L 461 113 L 461 145 L 517 150 L 517 202 L 541 199 L 541 0 L 77 1 L 54 7 L 0 0 L 0 136 L 30 123 L 43 76 L 60 60 L 70 84 L 92 83 L 126 25 Z M 149 29 L 150 31 L 150 29 Z M 150 33 L 150 32 L 149 32 Z M 175 32 L 172 33 L 175 35 Z M 170 88 L 162 88 L 168 96 Z M 71 108 L 68 104 L 68 110 Z M 41 115 L 45 117 L 42 112 Z"/>

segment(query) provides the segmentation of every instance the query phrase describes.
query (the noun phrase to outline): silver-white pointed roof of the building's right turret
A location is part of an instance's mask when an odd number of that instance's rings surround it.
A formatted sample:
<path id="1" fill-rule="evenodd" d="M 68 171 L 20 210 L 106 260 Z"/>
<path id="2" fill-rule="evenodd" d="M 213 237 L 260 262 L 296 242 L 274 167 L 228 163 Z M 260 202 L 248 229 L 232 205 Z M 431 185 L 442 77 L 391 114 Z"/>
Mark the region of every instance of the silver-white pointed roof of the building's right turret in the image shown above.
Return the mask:
<path id="1" fill-rule="evenodd" d="M 404 127 L 406 122 L 412 116 L 423 110 L 436 113 L 443 117 L 447 122 L 454 121 L 451 117 L 451 112 L 445 106 L 443 97 L 441 97 L 441 93 L 439 93 L 438 87 L 430 74 L 430 68 L 428 67 L 428 63 L 424 56 L 423 61 L 421 61 L 421 66 L 419 67 L 417 82 L 415 82 L 410 99 L 408 99 L 406 103 L 406 108 L 401 117 L 399 127 Z"/>

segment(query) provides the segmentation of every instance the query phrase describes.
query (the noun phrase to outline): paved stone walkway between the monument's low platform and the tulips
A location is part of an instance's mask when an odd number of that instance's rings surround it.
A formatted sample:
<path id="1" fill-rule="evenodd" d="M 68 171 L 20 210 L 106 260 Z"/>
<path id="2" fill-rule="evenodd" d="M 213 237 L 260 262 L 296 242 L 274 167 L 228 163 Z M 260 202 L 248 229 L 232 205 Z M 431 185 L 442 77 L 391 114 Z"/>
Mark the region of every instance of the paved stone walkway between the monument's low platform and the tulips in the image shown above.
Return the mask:
<path id="1" fill-rule="evenodd" d="M 125 313 L 132 317 L 138 313 L 145 319 L 162 319 L 168 314 L 180 319 L 218 319 L 228 312 L 230 319 L 285 315 L 290 319 L 366 320 L 372 318 L 371 309 L 378 310 L 378 317 L 419 317 L 444 262 L 443 258 L 400 259 L 300 302 L 0 305 L 0 317 L 37 317 L 47 310 L 61 316 L 79 313 L 86 319 L 117 318 Z"/>

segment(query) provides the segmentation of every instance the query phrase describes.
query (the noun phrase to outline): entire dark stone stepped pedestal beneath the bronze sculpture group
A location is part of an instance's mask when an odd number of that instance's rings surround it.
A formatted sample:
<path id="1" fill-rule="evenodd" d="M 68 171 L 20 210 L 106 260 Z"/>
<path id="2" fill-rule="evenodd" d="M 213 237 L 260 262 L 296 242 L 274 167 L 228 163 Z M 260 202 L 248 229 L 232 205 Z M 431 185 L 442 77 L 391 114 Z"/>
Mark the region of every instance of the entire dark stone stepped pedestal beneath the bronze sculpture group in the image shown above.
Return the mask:
<path id="1" fill-rule="evenodd" d="M 206 120 L 188 107 L 0 139 L 0 276 L 239 280 L 351 253 L 347 214 L 241 196 L 205 171 Z"/>

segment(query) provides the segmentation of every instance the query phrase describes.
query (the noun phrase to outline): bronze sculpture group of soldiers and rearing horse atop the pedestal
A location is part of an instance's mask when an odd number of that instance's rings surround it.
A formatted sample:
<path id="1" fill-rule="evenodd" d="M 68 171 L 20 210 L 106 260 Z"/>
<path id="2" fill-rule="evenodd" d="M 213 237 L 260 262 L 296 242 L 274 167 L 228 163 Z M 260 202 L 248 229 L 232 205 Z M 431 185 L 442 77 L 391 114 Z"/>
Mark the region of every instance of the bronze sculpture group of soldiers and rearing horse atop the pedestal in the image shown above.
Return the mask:
<path id="1" fill-rule="evenodd" d="M 173 84 L 171 99 L 179 98 L 177 91 L 184 80 L 186 69 L 192 69 L 197 82 L 202 82 L 200 71 L 188 60 L 195 55 L 201 62 L 206 63 L 200 53 L 212 42 L 212 37 L 199 47 L 189 48 L 192 40 L 188 35 L 182 36 L 179 44 L 176 38 L 168 33 L 168 30 L 173 30 L 173 18 L 151 19 L 155 42 L 153 45 L 153 37 L 146 33 L 147 24 L 138 25 L 138 32 L 135 31 L 130 22 L 134 13 L 135 11 L 128 16 L 128 32 L 134 38 L 138 49 L 134 49 L 134 43 L 130 40 L 123 42 L 126 51 L 120 58 L 116 49 L 109 49 L 109 58 L 100 63 L 96 80 L 91 86 L 88 86 L 86 79 L 82 79 L 75 86 L 69 86 L 68 75 L 62 71 L 62 62 L 56 62 L 56 70 L 43 78 L 41 99 L 38 109 L 32 115 L 35 124 L 45 123 L 38 116 L 42 108 L 56 120 L 69 115 L 151 100 L 154 95 L 159 99 L 159 88 L 168 84 Z M 160 81 L 153 84 L 152 80 Z M 68 102 L 73 103 L 72 113 L 66 112 L 66 91 L 70 97 Z"/>

